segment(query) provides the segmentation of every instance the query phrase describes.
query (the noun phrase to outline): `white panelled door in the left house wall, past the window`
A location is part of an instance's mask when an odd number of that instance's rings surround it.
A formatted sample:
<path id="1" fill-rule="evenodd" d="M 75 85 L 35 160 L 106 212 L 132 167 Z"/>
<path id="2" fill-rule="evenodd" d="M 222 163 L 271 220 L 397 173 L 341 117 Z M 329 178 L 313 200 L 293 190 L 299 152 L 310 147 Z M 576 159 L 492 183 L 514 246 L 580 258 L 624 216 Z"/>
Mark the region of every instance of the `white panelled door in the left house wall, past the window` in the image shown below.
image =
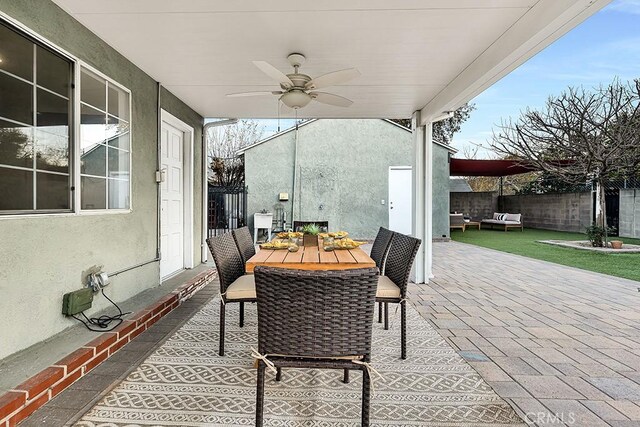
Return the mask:
<path id="1" fill-rule="evenodd" d="M 184 132 L 162 123 L 160 277 L 184 268 Z"/>

